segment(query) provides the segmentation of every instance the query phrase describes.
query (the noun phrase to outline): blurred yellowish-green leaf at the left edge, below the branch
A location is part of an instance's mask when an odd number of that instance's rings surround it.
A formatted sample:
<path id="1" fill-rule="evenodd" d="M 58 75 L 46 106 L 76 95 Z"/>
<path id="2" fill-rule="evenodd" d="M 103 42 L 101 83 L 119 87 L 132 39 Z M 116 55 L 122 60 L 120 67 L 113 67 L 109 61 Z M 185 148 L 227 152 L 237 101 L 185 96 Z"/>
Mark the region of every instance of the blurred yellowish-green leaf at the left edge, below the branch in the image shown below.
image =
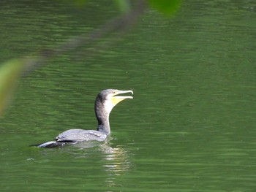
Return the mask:
<path id="1" fill-rule="evenodd" d="M 23 72 L 24 60 L 12 60 L 0 66 L 0 115 L 11 98 L 18 77 Z"/>

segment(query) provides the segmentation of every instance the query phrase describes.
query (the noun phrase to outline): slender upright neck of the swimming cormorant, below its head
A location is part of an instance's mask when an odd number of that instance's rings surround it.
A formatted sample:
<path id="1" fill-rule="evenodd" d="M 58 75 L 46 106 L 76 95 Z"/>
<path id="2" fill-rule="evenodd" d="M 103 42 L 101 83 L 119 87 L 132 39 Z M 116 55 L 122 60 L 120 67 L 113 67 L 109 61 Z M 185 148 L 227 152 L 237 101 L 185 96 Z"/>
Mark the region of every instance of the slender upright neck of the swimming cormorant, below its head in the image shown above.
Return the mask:
<path id="1" fill-rule="evenodd" d="M 105 105 L 103 102 L 97 98 L 95 101 L 95 115 L 98 120 L 97 131 L 101 131 L 105 134 L 110 134 L 110 123 L 109 123 L 109 115 L 110 112 L 105 109 Z"/>

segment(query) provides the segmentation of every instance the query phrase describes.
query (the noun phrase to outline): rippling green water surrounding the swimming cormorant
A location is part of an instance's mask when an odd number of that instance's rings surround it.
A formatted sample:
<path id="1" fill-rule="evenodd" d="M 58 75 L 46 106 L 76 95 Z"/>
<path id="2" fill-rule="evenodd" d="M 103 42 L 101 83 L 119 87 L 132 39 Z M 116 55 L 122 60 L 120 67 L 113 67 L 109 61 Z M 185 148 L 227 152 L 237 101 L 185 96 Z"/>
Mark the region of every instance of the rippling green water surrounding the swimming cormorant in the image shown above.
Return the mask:
<path id="1" fill-rule="evenodd" d="M 112 4 L 1 1 L 0 61 L 33 55 L 105 23 Z M 0 191 L 255 191 L 255 1 L 187 1 L 148 10 L 97 55 L 62 55 L 23 78 L 0 124 Z M 94 99 L 133 90 L 111 139 L 37 150 L 96 128 Z"/>

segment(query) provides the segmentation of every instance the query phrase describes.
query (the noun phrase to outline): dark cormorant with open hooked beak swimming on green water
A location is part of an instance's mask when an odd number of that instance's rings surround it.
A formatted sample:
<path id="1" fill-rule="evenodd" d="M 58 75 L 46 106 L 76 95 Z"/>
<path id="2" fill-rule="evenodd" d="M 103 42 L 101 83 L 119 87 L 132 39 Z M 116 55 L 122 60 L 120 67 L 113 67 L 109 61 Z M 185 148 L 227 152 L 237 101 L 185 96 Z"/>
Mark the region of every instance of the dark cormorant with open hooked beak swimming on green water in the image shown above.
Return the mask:
<path id="1" fill-rule="evenodd" d="M 83 130 L 78 128 L 69 129 L 59 134 L 55 141 L 45 142 L 37 147 L 58 147 L 67 143 L 75 144 L 86 141 L 104 141 L 110 134 L 109 115 L 113 107 L 124 99 L 132 99 L 132 96 L 119 96 L 121 93 L 132 93 L 132 91 L 119 91 L 117 89 L 105 89 L 101 91 L 95 100 L 94 110 L 98 120 L 96 130 Z"/>

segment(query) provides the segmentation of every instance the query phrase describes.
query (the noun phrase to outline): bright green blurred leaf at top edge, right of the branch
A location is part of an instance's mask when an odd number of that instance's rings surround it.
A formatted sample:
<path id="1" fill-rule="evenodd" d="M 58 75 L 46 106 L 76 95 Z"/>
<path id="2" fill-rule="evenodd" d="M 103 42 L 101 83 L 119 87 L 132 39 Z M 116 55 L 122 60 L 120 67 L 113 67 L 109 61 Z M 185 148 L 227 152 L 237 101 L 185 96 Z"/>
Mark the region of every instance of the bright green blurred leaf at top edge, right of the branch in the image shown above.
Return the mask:
<path id="1" fill-rule="evenodd" d="M 172 15 L 181 6 L 181 0 L 148 0 L 148 3 L 165 15 Z"/>

